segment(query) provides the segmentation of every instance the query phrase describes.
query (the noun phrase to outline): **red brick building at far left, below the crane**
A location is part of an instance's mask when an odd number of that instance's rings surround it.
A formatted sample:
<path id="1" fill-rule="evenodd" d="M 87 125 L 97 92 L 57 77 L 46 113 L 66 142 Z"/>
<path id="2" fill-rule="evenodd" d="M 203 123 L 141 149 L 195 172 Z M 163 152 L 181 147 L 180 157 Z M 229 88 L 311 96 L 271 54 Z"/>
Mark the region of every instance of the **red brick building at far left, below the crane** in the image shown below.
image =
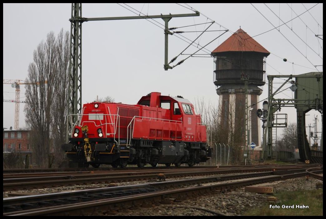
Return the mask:
<path id="1" fill-rule="evenodd" d="M 32 147 L 29 143 L 30 130 L 3 129 L 3 153 L 20 152 L 22 156 L 31 156 Z"/>

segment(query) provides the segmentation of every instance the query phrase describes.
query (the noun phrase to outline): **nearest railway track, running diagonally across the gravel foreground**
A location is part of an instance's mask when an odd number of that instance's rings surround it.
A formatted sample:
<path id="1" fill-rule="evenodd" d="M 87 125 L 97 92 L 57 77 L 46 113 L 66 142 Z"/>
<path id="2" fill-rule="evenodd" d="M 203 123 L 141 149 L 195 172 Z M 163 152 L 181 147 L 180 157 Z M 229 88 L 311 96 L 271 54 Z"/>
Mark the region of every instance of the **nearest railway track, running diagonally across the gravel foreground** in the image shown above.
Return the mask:
<path id="1" fill-rule="evenodd" d="M 309 170 L 309 172 L 316 174 L 318 172 L 322 172 L 322 169 L 320 168 L 319 170 Z M 211 193 L 214 190 L 233 189 L 246 185 L 254 185 L 305 176 L 307 171 L 300 170 L 298 173 L 282 175 L 274 175 L 273 173 L 273 171 L 270 171 L 263 173 L 225 175 L 220 177 L 206 177 L 199 179 L 178 180 L 142 185 L 90 189 L 57 194 L 4 198 L 4 211 L 12 211 L 5 212 L 4 215 L 94 215 L 101 212 L 110 213 L 111 211 L 116 211 L 117 209 L 132 208 L 135 206 L 141 206 L 143 204 L 151 205 L 164 201 L 179 201 L 189 196 L 199 195 L 207 192 Z M 251 178 L 247 179 L 248 177 Z M 239 178 L 246 179 L 234 180 Z M 229 182 L 222 182 L 226 180 Z M 206 185 L 201 185 L 204 183 L 206 183 Z M 188 187 L 176 188 L 178 186 Z M 163 188 L 166 189 L 168 187 L 172 187 L 172 189 L 162 190 Z M 139 193 L 139 190 L 141 189 L 144 189 L 143 193 Z M 138 194 L 132 194 L 133 190 L 138 192 Z M 127 195 L 110 197 L 109 194 L 114 192 L 120 194 L 125 192 Z M 85 194 L 87 194 L 87 197 L 85 197 Z M 77 203 L 71 203 L 69 202 L 69 199 L 70 201 L 72 200 Z M 42 203 L 43 206 L 44 203 L 52 206 L 42 207 Z M 56 206 L 53 206 L 53 203 L 57 203 Z M 32 209 L 23 210 L 23 208 Z"/>

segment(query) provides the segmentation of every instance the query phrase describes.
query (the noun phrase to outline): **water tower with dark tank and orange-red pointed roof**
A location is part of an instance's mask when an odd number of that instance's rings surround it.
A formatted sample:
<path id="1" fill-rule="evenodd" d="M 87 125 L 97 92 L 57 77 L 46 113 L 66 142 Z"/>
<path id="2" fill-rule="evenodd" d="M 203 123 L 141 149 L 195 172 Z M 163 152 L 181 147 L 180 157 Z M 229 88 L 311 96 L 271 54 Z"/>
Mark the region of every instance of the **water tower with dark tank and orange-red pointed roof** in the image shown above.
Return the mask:
<path id="1" fill-rule="evenodd" d="M 242 76 L 248 78 L 248 105 L 259 102 L 262 89 L 258 86 L 265 84 L 264 59 L 269 54 L 270 52 L 242 29 L 237 30 L 211 53 L 215 62 L 214 84 L 219 95 L 222 126 L 233 124 L 233 126 L 240 125 L 244 128 L 245 82 L 241 78 Z M 256 116 L 257 109 L 257 105 L 248 109 L 248 113 L 250 112 L 248 128 L 251 130 L 249 141 L 261 147 L 261 126 Z M 228 123 L 230 120 L 234 121 Z M 243 129 L 241 133 L 244 133 Z"/>

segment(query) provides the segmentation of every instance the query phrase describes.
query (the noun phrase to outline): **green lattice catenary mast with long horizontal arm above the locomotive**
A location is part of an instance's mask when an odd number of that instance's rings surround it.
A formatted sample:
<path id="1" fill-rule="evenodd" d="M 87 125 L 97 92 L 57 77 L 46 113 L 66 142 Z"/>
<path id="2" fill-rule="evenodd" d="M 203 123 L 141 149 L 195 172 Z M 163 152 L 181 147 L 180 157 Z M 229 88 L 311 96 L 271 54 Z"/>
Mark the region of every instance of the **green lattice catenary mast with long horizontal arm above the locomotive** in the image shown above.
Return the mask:
<path id="1" fill-rule="evenodd" d="M 161 18 L 165 22 L 165 63 L 164 69 L 171 68 L 168 63 L 168 35 L 171 34 L 168 30 L 168 22 L 175 17 L 190 17 L 199 16 L 199 12 L 192 14 L 169 14 L 169 15 L 153 15 L 153 16 L 129 16 L 129 17 L 105 17 L 105 18 L 83 18 L 82 3 L 71 3 L 71 19 L 70 25 L 70 62 L 71 69 L 69 76 L 69 97 L 68 97 L 68 115 L 82 114 L 82 23 L 85 21 L 109 21 L 109 20 L 130 20 L 130 19 L 155 19 Z M 73 122 L 77 117 L 73 118 Z M 69 123 L 69 128 L 71 128 Z M 71 129 L 69 129 L 71 130 Z M 67 133 L 71 134 L 71 133 Z"/>

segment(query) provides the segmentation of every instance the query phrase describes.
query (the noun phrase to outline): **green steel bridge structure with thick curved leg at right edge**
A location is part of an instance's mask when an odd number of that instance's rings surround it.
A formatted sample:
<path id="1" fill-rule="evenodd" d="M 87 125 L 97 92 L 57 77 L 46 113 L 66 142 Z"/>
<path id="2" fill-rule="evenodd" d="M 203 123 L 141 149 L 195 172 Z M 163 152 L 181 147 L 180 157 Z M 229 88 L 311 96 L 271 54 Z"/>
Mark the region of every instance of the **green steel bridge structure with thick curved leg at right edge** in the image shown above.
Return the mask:
<path id="1" fill-rule="evenodd" d="M 297 134 L 298 148 L 302 161 L 310 160 L 318 162 L 322 160 L 322 153 L 313 151 L 309 147 L 305 133 L 305 113 L 315 109 L 323 113 L 323 94 L 322 94 L 322 72 L 311 72 L 302 75 L 268 75 L 268 116 L 267 129 L 264 131 L 263 158 L 272 157 L 272 129 L 277 127 L 274 122 L 274 113 L 281 107 L 295 107 L 297 109 Z M 278 89 L 273 92 L 274 78 L 288 78 Z M 295 92 L 294 99 L 275 99 L 274 95 L 291 81 L 292 90 Z M 316 92 L 317 91 L 317 92 Z M 314 95 L 313 95 L 314 94 Z M 322 145 L 321 145 L 322 151 Z"/>

